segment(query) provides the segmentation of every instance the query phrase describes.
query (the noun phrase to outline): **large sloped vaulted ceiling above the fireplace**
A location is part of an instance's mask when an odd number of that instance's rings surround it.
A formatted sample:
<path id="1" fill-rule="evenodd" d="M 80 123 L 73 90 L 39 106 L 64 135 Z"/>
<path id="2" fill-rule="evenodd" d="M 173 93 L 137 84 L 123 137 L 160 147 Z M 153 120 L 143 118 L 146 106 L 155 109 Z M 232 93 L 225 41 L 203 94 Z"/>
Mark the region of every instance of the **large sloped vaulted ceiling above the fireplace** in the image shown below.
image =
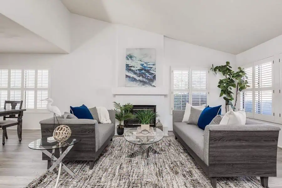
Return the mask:
<path id="1" fill-rule="evenodd" d="M 62 0 L 72 13 L 238 54 L 282 34 L 282 0 Z"/>

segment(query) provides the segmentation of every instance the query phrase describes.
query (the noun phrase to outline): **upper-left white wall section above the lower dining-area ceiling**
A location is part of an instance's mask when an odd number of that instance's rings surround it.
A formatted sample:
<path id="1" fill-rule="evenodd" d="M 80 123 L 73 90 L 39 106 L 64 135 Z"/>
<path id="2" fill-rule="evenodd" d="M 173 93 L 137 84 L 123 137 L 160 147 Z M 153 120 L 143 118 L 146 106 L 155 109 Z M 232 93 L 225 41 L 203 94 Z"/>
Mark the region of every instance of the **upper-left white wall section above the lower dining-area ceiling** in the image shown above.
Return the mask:
<path id="1" fill-rule="evenodd" d="M 0 0 L 0 13 L 70 52 L 70 12 L 60 0 Z"/>

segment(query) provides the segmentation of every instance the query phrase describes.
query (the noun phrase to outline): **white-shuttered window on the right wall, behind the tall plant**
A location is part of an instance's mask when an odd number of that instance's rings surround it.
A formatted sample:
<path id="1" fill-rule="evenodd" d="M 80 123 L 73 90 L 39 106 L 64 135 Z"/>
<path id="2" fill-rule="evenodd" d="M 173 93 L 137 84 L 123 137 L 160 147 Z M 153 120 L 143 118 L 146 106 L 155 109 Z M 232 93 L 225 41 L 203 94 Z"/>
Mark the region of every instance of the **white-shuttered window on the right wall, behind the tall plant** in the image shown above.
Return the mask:
<path id="1" fill-rule="evenodd" d="M 250 118 L 274 120 L 273 95 L 273 57 L 247 65 L 245 78 L 249 88 L 240 93 L 240 109 Z"/>

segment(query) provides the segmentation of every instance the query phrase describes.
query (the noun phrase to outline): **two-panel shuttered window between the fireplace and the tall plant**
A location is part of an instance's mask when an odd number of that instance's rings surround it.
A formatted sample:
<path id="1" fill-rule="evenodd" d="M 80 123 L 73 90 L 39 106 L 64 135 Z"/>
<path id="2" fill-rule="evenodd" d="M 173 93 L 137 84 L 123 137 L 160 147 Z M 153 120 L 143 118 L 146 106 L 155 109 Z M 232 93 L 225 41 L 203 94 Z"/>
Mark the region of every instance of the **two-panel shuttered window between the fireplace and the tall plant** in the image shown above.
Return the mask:
<path id="1" fill-rule="evenodd" d="M 208 69 L 172 67 L 172 109 L 185 110 L 186 103 L 203 105 L 207 103 Z"/>

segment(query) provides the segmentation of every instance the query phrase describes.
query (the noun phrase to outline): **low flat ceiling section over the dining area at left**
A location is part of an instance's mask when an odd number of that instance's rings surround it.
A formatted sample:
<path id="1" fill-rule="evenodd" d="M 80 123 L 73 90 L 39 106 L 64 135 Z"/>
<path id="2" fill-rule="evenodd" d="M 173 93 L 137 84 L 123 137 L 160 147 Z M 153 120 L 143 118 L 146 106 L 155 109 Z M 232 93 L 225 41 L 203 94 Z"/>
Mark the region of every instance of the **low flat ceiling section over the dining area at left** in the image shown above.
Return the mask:
<path id="1" fill-rule="evenodd" d="M 0 53 L 65 53 L 65 51 L 0 14 Z"/>

